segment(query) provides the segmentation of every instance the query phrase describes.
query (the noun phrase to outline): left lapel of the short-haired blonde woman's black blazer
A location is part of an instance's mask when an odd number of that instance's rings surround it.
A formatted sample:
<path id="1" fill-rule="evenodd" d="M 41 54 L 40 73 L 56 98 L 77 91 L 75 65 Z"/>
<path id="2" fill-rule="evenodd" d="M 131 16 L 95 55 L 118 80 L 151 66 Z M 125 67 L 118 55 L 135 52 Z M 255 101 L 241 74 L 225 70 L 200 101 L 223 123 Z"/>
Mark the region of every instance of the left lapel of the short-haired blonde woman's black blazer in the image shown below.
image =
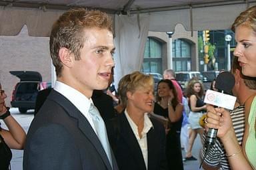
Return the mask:
<path id="1" fill-rule="evenodd" d="M 131 129 L 125 113 L 121 114 L 121 137 L 128 145 L 129 151 L 131 151 L 132 155 L 135 157 L 134 160 L 138 163 L 138 169 L 146 169 L 141 147 L 139 147 L 139 143 Z"/>

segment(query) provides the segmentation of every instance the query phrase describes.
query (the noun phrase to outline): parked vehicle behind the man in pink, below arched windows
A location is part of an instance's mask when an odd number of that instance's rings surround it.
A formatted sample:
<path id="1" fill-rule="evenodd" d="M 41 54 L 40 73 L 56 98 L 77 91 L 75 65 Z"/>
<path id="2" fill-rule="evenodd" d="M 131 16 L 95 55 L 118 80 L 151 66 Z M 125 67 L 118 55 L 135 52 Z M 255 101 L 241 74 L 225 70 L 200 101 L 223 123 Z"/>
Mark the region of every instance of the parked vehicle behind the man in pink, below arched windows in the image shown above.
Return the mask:
<path id="1" fill-rule="evenodd" d="M 189 80 L 193 77 L 197 77 L 203 82 L 203 75 L 201 74 L 201 72 L 175 72 L 175 74 L 176 80 L 177 82 L 179 82 L 179 84 L 181 84 L 183 90 L 186 88 L 187 82 L 189 82 Z"/>

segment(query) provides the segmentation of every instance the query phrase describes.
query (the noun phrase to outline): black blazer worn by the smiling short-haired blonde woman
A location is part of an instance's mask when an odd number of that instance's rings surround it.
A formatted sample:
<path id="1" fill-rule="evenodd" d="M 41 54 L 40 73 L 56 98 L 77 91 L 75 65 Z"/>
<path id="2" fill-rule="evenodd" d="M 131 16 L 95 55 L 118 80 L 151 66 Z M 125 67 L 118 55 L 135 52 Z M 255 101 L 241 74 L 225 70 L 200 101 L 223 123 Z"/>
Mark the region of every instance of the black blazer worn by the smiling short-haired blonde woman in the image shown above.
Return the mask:
<path id="1" fill-rule="evenodd" d="M 153 128 L 147 133 L 148 170 L 167 169 L 165 129 L 157 120 L 151 122 Z M 141 148 L 124 112 L 107 122 L 107 132 L 119 169 L 146 170 Z"/>

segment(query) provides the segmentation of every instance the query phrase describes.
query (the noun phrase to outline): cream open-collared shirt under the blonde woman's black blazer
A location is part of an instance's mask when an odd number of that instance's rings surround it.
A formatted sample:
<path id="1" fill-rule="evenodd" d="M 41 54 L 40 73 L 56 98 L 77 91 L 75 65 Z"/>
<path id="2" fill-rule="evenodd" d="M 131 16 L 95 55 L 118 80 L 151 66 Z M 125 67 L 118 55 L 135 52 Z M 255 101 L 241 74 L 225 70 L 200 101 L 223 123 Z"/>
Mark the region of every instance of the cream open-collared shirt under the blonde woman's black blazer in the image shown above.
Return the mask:
<path id="1" fill-rule="evenodd" d="M 147 113 L 144 114 L 144 128 L 141 131 L 141 138 L 139 137 L 139 131 L 137 125 L 133 122 L 133 120 L 130 118 L 129 114 L 127 113 L 127 110 L 125 109 L 125 116 L 131 126 L 131 129 L 133 130 L 133 133 L 139 143 L 139 147 L 141 147 L 141 152 L 143 154 L 143 159 L 145 161 L 145 166 L 147 168 L 147 162 L 148 162 L 148 151 L 147 151 L 147 132 L 153 128 L 153 124 L 151 120 L 149 119 L 149 116 L 147 116 Z"/>

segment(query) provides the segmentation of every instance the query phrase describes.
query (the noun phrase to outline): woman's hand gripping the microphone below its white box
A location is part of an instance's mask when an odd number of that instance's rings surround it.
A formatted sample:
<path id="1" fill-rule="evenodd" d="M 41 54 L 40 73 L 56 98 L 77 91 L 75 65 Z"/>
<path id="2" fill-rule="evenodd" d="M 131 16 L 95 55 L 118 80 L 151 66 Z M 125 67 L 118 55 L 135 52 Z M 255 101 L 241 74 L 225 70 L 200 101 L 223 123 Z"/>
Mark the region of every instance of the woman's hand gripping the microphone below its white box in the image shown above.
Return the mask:
<path id="1" fill-rule="evenodd" d="M 218 129 L 217 136 L 221 139 L 229 136 L 229 133 L 233 133 L 233 123 L 229 114 L 229 111 L 224 108 L 213 108 L 213 106 L 207 106 L 207 122 L 208 128 Z"/>

